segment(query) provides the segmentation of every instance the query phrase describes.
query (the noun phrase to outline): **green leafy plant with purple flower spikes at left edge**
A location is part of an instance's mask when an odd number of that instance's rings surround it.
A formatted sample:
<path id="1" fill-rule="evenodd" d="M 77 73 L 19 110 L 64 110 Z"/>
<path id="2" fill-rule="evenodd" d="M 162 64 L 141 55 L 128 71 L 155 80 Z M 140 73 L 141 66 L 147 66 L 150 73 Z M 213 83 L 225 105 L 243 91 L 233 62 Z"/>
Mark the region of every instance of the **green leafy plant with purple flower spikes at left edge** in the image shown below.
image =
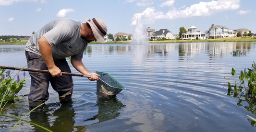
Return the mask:
<path id="1" fill-rule="evenodd" d="M 17 96 L 17 94 L 24 87 L 25 73 L 23 73 L 24 77 L 22 80 L 20 79 L 19 72 L 13 78 L 11 77 L 12 73 L 11 70 L 0 69 L 0 113 L 8 101 L 22 97 Z M 17 77 L 16 80 L 14 79 L 15 77 Z"/>

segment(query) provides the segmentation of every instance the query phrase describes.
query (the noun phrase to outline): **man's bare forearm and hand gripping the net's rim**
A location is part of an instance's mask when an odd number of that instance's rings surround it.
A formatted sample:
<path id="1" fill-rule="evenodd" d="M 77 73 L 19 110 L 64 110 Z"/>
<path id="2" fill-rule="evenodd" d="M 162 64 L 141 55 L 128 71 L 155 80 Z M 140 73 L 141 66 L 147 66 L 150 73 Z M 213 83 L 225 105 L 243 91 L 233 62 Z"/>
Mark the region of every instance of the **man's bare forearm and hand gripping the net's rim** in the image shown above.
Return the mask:
<path id="1" fill-rule="evenodd" d="M 82 61 L 76 61 L 76 60 L 74 60 L 74 59 L 71 59 L 71 64 L 73 65 L 73 67 L 74 67 L 77 71 L 81 72 L 81 73 L 84 74 L 84 75 L 91 76 L 91 77 L 88 77 L 89 80 L 91 80 L 91 81 L 98 80 L 98 77 L 99 77 L 100 75 L 98 75 L 98 74 L 96 74 L 96 73 L 94 73 L 94 72 L 89 72 L 89 71 L 87 70 L 87 68 L 85 67 L 85 65 L 83 64 Z"/>

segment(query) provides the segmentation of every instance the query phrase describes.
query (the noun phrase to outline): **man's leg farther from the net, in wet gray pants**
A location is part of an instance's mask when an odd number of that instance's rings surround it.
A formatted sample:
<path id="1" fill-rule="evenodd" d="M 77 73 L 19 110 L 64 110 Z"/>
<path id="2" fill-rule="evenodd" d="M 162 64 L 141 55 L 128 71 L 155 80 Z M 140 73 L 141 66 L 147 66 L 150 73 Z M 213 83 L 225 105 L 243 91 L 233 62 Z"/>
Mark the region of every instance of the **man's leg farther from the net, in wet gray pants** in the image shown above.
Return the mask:
<path id="1" fill-rule="evenodd" d="M 48 70 L 43 58 L 40 55 L 25 52 L 28 68 Z M 30 92 L 28 95 L 29 108 L 34 109 L 49 99 L 49 73 L 29 72 L 31 76 Z M 43 106 L 37 108 L 42 110 Z"/>

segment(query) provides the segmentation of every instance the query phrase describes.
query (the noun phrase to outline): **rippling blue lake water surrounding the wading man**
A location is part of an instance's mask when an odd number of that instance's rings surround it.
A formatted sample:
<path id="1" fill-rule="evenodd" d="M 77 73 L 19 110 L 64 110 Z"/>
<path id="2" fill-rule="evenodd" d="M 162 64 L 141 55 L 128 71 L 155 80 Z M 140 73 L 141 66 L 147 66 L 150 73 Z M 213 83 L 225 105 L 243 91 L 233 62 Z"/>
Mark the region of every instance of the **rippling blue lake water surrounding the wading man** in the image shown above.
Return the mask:
<path id="1" fill-rule="evenodd" d="M 25 66 L 24 47 L 0 45 L 0 65 Z M 233 51 L 247 53 L 233 56 Z M 89 44 L 85 66 L 110 73 L 126 89 L 114 99 L 98 99 L 96 81 L 73 77 L 72 102 L 54 99 L 24 120 L 53 132 L 253 132 L 255 122 L 247 115 L 256 115 L 246 101 L 227 95 L 232 80 L 224 77 L 231 76 L 232 67 L 237 73 L 251 68 L 255 56 L 256 42 Z M 29 93 L 28 73 L 25 78 L 19 95 Z M 50 99 L 58 96 L 51 87 L 49 93 Z M 24 96 L 3 114 L 21 118 L 27 112 Z M 10 131 L 16 122 L 0 116 L 0 131 Z M 43 130 L 21 122 L 14 132 L 21 131 Z"/>

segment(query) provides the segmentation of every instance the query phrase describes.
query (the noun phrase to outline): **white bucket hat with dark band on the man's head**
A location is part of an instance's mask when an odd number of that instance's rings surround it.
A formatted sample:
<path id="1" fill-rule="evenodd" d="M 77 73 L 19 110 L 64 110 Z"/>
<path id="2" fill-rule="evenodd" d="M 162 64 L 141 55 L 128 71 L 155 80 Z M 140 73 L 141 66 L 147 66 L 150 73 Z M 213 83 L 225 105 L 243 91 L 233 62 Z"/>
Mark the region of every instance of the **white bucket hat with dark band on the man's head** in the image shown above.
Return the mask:
<path id="1" fill-rule="evenodd" d="M 97 41 L 105 43 L 104 36 L 108 32 L 106 23 L 100 18 L 93 18 L 92 20 L 85 18 L 85 22 L 90 24 L 94 37 L 97 39 Z"/>

